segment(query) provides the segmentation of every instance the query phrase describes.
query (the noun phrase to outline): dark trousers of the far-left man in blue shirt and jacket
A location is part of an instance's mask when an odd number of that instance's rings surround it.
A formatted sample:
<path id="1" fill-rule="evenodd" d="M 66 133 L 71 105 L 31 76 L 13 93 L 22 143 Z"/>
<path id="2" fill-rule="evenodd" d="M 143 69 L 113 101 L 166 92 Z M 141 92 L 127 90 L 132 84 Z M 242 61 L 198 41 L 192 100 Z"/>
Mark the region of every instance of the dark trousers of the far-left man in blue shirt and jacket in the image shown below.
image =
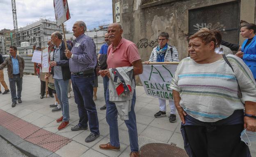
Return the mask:
<path id="1" fill-rule="evenodd" d="M 13 78 L 9 78 L 10 90 L 11 90 L 11 101 L 15 102 L 21 99 L 22 91 L 22 77 L 20 74 L 13 75 Z M 17 85 L 17 95 L 16 95 L 16 85 Z"/>

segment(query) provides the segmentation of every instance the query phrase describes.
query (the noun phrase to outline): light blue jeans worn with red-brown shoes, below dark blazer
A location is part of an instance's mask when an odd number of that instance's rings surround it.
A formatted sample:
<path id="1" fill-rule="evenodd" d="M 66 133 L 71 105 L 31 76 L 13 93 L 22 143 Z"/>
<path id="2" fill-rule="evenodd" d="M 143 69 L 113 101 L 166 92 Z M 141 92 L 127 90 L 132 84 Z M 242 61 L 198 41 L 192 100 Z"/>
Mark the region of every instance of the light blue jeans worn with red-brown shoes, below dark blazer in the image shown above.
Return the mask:
<path id="1" fill-rule="evenodd" d="M 54 79 L 55 91 L 59 100 L 59 104 L 62 108 L 63 121 L 69 121 L 69 80 Z"/>

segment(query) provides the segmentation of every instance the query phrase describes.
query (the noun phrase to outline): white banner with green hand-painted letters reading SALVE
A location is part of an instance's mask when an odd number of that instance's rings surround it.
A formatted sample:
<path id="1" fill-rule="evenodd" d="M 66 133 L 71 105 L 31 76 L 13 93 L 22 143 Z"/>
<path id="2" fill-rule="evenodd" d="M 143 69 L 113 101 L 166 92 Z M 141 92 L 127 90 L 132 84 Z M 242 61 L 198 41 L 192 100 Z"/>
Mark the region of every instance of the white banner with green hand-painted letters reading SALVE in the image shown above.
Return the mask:
<path id="1" fill-rule="evenodd" d="M 178 64 L 144 64 L 139 78 L 146 95 L 172 100 L 172 89 L 169 87 Z"/>

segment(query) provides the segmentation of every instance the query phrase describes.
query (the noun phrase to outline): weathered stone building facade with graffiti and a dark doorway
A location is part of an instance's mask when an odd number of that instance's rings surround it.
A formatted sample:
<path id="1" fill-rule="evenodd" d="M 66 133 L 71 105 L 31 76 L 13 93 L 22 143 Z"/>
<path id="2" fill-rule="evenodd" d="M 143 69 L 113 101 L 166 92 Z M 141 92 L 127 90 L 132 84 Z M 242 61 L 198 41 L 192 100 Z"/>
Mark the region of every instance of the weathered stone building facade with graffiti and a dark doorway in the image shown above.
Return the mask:
<path id="1" fill-rule="evenodd" d="M 169 33 L 169 44 L 177 47 L 183 59 L 187 57 L 187 38 L 202 27 L 218 29 L 224 40 L 241 44 L 240 20 L 255 22 L 255 1 L 112 0 L 113 21 L 120 11 L 123 37 L 137 44 L 142 61 L 149 59 L 162 31 Z"/>

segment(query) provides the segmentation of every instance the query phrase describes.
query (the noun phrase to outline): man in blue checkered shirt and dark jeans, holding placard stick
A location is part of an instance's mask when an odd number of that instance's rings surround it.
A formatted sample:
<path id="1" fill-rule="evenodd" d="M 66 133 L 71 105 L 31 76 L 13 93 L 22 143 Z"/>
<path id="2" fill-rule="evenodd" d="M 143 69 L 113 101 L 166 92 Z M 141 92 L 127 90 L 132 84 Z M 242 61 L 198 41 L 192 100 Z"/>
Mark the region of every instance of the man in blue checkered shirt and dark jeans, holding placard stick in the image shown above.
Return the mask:
<path id="1" fill-rule="evenodd" d="M 80 119 L 71 130 L 86 130 L 89 122 L 91 133 L 86 137 L 85 142 L 91 142 L 100 135 L 96 105 L 92 99 L 94 68 L 97 64 L 96 46 L 93 39 L 85 35 L 85 22 L 75 22 L 72 30 L 76 39 L 72 50 L 66 50 L 66 57 L 70 58 L 69 69 Z"/>

